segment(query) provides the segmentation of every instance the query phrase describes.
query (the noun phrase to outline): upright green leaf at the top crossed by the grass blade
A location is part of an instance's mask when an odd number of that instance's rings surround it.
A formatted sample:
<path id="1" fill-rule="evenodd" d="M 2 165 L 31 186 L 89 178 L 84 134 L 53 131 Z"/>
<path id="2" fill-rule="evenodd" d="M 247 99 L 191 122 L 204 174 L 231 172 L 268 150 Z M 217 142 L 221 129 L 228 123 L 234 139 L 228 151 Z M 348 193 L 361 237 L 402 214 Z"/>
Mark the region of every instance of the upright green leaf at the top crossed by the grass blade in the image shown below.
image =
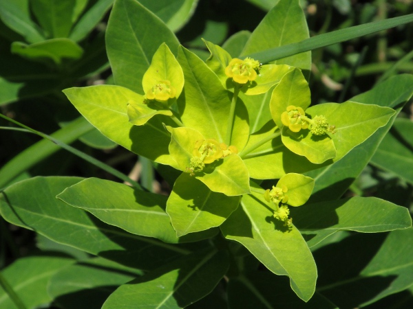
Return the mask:
<path id="1" fill-rule="evenodd" d="M 242 56 L 300 42 L 309 37 L 306 16 L 299 6 L 299 0 L 279 1 L 255 28 L 242 51 Z M 273 60 L 271 63 L 276 65 L 291 65 L 306 71 L 311 69 L 310 52 L 295 53 L 294 56 L 282 59 L 280 57 L 267 60 L 261 56 L 252 58 L 263 63 Z"/>

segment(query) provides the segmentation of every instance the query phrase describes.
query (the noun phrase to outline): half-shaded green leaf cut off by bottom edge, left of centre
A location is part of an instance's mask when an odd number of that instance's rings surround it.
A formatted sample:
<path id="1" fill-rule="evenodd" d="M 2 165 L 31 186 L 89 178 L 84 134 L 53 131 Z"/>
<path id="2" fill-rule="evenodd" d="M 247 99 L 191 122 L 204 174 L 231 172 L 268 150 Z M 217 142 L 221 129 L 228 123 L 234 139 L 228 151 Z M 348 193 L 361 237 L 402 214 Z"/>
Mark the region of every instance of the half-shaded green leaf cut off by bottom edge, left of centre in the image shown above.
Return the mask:
<path id="1" fill-rule="evenodd" d="M 201 251 L 120 286 L 102 308 L 184 308 L 211 293 L 228 267 L 225 251 Z"/>

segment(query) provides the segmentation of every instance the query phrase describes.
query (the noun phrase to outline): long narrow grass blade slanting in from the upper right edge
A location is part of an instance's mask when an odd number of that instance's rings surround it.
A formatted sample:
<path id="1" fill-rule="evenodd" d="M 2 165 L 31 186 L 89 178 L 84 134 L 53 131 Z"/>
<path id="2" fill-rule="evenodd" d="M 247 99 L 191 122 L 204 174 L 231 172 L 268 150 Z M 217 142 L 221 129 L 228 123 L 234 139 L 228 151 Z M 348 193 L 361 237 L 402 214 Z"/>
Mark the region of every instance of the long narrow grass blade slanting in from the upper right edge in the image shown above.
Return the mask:
<path id="1" fill-rule="evenodd" d="M 374 32 L 386 30 L 398 25 L 410 23 L 413 21 L 413 14 L 407 14 L 405 16 L 394 17 L 392 19 L 385 19 L 383 21 L 374 21 L 372 23 L 366 23 L 364 25 L 357 25 L 354 27 L 348 27 L 346 29 L 336 30 L 326 34 L 319 34 L 312 38 L 306 38 L 304 41 L 288 44 L 281 47 L 265 50 L 264 52 L 251 52 L 245 56 L 260 59 L 262 63 L 271 62 L 277 59 L 285 58 L 295 54 L 307 52 L 309 50 L 317 49 L 320 47 L 340 43 L 343 41 L 351 40 L 352 38 L 359 38 L 360 36 L 366 36 Z M 271 40 L 271 39 L 270 39 Z M 264 49 L 261 49 L 264 50 Z"/>

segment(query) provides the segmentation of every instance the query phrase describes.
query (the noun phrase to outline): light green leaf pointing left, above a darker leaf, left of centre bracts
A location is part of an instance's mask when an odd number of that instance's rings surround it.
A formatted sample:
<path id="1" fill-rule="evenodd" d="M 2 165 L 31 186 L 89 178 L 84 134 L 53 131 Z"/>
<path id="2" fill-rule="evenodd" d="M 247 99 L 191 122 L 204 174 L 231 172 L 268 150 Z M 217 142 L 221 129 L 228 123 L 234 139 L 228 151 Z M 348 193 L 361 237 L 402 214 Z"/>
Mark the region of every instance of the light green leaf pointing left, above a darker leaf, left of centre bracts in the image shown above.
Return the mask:
<path id="1" fill-rule="evenodd" d="M 198 241 L 215 235 L 216 231 L 176 237 L 171 220 L 165 212 L 167 196 L 137 190 L 122 183 L 102 179 L 85 179 L 67 187 L 57 196 L 63 202 L 85 209 L 103 222 L 140 236 L 164 242 Z"/>

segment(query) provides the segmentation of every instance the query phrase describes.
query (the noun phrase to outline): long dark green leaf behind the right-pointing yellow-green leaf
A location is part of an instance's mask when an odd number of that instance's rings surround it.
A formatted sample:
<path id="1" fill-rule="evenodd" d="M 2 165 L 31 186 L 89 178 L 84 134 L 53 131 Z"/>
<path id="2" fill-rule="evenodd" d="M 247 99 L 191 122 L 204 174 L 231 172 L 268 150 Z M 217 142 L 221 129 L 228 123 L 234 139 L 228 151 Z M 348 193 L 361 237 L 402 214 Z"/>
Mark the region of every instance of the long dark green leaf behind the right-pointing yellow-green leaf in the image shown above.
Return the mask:
<path id="1" fill-rule="evenodd" d="M 402 74 L 394 76 L 382 82 L 379 87 L 374 87 L 366 93 L 357 95 L 351 101 L 364 104 L 379 104 L 379 106 L 392 108 L 397 107 L 399 112 L 403 102 L 412 97 L 412 84 L 413 76 L 411 75 Z M 315 179 L 315 188 L 310 201 L 330 201 L 339 198 L 346 192 L 352 181 L 359 176 L 372 158 L 381 140 L 390 129 L 394 117 L 395 115 L 385 127 L 379 128 L 372 137 L 351 150 L 343 159 L 326 168 L 319 168 L 314 170 L 314 172 L 306 173 L 307 176 Z"/>

